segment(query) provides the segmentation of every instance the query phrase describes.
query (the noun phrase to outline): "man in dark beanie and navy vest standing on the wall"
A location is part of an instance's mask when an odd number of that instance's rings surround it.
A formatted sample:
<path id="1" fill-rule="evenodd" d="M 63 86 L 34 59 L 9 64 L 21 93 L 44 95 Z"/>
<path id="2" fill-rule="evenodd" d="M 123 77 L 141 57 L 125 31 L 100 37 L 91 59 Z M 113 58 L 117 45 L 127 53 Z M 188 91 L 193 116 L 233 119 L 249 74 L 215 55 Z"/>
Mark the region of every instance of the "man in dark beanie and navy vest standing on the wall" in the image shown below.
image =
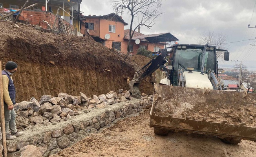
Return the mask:
<path id="1" fill-rule="evenodd" d="M 15 87 L 13 84 L 12 75 L 17 71 L 18 65 L 15 62 L 7 62 L 5 69 L 2 71 L 3 81 L 3 96 L 4 96 L 4 120 L 6 139 L 12 140 L 23 134 L 18 132 L 16 128 L 16 113 L 14 111 L 15 102 Z"/>

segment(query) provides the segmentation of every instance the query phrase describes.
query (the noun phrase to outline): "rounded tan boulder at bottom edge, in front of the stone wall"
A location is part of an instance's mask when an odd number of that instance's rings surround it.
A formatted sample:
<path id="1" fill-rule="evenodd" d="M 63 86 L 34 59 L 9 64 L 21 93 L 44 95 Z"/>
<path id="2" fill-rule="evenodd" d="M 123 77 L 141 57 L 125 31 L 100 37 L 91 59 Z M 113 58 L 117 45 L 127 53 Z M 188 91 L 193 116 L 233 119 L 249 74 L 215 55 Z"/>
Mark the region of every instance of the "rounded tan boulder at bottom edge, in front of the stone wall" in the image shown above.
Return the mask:
<path id="1" fill-rule="evenodd" d="M 36 146 L 27 145 L 21 148 L 20 157 L 42 157 L 42 154 Z"/>

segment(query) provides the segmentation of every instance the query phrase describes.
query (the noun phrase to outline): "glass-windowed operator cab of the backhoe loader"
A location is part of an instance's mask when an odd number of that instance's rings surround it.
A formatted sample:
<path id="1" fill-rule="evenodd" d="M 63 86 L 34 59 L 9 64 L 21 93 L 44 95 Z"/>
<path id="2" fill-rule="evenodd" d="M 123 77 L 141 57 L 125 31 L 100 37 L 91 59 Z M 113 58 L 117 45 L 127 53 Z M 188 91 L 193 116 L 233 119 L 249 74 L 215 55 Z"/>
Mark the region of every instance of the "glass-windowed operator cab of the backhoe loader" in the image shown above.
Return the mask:
<path id="1" fill-rule="evenodd" d="M 176 44 L 172 47 L 172 57 L 170 57 L 169 65 L 172 65 L 169 78 L 173 86 L 177 86 L 178 69 L 184 71 L 193 69 L 193 71 L 201 72 L 204 45 L 192 44 Z M 207 46 L 205 54 L 204 73 L 209 71 L 217 71 L 216 46 Z"/>

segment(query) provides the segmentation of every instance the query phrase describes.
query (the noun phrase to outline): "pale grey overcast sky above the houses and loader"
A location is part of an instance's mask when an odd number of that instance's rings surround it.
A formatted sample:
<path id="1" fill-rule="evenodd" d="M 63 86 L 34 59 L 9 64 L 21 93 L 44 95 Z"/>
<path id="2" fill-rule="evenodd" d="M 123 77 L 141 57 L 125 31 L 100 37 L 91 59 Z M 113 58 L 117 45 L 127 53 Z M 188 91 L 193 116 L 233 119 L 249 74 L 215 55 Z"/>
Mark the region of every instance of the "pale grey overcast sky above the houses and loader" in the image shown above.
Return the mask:
<path id="1" fill-rule="evenodd" d="M 152 29 L 141 28 L 143 34 L 170 32 L 181 44 L 197 44 L 196 39 L 204 31 L 227 35 L 227 42 L 254 39 L 256 29 L 256 0 L 163 0 L 164 12 Z M 113 13 L 109 0 L 83 0 L 83 15 L 107 15 Z M 254 10 L 254 13 L 253 13 Z M 252 16 L 253 13 L 253 16 Z M 130 16 L 123 15 L 128 24 Z M 252 19 L 252 20 L 251 20 Z M 251 22 L 251 23 L 250 23 Z M 128 29 L 128 26 L 125 27 Z M 249 68 L 256 68 L 256 44 L 254 40 L 229 44 L 230 60 L 242 60 Z M 225 64 L 234 64 L 225 61 Z"/>

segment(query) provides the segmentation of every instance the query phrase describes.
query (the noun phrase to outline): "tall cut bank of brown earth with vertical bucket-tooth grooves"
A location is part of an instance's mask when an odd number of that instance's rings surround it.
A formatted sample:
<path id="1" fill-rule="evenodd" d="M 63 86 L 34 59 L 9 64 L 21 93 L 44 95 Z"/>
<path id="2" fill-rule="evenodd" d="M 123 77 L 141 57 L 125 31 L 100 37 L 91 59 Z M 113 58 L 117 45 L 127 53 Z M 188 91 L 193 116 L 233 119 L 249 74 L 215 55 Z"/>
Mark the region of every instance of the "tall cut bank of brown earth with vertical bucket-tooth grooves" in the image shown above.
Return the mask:
<path id="1" fill-rule="evenodd" d="M 91 37 L 53 35 L 32 26 L 0 22 L 2 69 L 12 60 L 18 63 L 13 79 L 16 100 L 64 92 L 87 96 L 128 89 L 134 64 L 124 55 L 95 42 Z M 153 84 L 149 83 L 153 89 Z M 147 87 L 142 92 L 152 94 Z"/>

